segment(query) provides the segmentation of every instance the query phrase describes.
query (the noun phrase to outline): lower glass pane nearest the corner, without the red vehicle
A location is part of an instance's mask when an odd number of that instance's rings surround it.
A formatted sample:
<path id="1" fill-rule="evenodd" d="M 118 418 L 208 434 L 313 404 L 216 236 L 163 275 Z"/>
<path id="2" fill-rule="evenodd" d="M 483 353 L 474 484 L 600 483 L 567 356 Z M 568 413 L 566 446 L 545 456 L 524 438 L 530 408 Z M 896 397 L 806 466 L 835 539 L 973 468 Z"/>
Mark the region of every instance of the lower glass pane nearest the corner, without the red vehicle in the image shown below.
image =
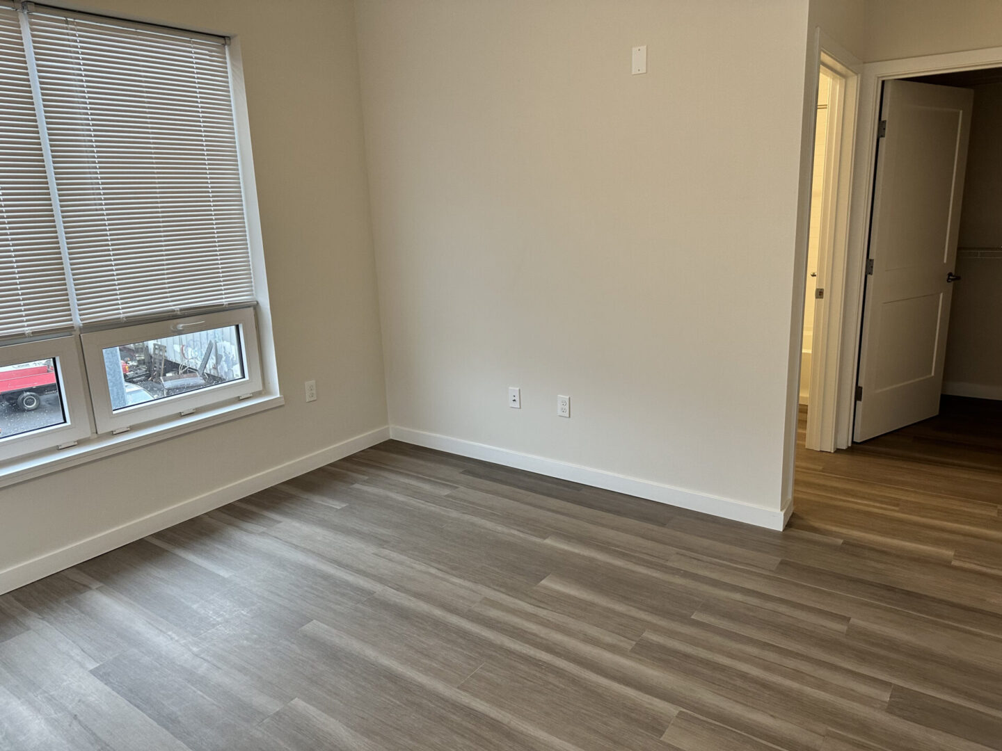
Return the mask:
<path id="1" fill-rule="evenodd" d="M 239 326 L 109 347 L 104 372 L 112 411 L 240 381 Z"/>

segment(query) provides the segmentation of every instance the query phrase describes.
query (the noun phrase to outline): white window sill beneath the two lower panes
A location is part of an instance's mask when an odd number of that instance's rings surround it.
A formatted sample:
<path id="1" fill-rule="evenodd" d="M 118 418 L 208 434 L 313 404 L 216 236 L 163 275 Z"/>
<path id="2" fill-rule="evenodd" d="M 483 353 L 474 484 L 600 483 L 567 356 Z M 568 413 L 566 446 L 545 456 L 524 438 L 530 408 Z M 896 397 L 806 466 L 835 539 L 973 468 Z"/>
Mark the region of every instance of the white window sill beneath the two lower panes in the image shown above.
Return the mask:
<path id="1" fill-rule="evenodd" d="M 105 435 L 81 441 L 77 446 L 15 459 L 0 466 L 0 488 L 34 480 L 70 467 L 93 462 L 115 454 L 138 449 L 187 433 L 244 418 L 276 407 L 286 400 L 282 395 L 261 395 L 236 404 L 205 409 L 193 415 L 174 417 L 169 421 L 138 426 L 117 436 Z"/>

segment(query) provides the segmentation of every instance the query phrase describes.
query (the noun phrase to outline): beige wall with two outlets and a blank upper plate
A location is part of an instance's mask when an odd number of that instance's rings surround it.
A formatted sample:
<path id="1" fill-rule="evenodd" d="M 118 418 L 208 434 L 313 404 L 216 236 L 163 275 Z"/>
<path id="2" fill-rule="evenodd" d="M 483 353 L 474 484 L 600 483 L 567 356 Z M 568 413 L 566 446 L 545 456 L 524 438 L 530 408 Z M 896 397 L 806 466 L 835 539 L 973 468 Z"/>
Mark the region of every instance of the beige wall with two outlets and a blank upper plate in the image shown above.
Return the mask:
<path id="1" fill-rule="evenodd" d="M 807 10 L 360 0 L 392 424 L 779 509 Z"/>

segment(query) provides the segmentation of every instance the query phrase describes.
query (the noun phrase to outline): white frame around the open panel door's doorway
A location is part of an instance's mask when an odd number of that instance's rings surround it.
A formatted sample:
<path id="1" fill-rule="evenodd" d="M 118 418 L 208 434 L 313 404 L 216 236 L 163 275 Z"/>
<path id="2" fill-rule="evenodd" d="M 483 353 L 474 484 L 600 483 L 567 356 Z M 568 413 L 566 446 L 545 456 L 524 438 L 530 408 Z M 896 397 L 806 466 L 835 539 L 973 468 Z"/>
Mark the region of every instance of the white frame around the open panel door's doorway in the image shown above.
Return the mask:
<path id="1" fill-rule="evenodd" d="M 845 287 L 833 288 L 832 296 L 843 299 L 844 316 L 841 353 L 837 359 L 837 406 L 835 410 L 835 449 L 852 445 L 856 418 L 856 381 L 859 368 L 860 341 L 863 331 L 863 299 L 866 286 L 866 258 L 870 244 L 870 214 L 877 176 L 877 141 L 880 123 L 880 96 L 884 81 L 919 75 L 953 73 L 960 70 L 1002 67 L 1002 47 L 948 52 L 938 55 L 902 58 L 867 63 L 860 76 L 857 119 L 857 147 L 854 157 L 852 201 L 849 210 L 849 237 Z M 841 292 L 841 293 L 840 293 Z M 826 294 L 828 290 L 826 289 Z"/>

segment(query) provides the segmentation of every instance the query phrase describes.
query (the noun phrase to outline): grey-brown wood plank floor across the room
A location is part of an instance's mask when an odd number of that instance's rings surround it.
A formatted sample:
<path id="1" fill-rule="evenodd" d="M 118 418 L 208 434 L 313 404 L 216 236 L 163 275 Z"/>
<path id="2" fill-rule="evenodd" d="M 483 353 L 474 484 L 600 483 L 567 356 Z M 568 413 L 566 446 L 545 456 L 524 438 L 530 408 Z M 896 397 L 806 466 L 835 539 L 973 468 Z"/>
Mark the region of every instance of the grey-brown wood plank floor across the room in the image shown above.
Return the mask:
<path id="1" fill-rule="evenodd" d="M 774 533 L 388 442 L 0 597 L 0 748 L 1002 749 L 1002 415 Z"/>

